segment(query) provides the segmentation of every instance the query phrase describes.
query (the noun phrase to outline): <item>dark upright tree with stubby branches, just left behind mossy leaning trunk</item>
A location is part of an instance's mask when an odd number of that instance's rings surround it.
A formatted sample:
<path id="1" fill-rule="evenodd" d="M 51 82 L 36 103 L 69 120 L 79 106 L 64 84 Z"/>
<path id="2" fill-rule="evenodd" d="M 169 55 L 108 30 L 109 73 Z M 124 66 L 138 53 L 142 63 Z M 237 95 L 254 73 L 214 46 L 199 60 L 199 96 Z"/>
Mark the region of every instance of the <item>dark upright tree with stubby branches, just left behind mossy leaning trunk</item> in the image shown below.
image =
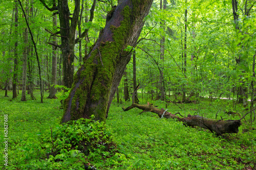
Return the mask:
<path id="1" fill-rule="evenodd" d="M 73 75 L 74 75 L 74 47 L 75 44 L 78 43 L 84 36 L 86 36 L 89 29 L 84 30 L 80 37 L 76 38 L 76 27 L 79 20 L 79 12 L 80 12 L 80 0 L 75 0 L 75 7 L 73 14 L 70 13 L 68 0 L 58 0 L 58 4 L 53 4 L 52 8 L 49 8 L 44 0 L 40 0 L 40 2 L 49 10 L 55 11 L 58 10 L 59 13 L 59 26 L 60 31 L 54 33 L 55 36 L 61 37 L 61 45 L 50 43 L 57 47 L 60 47 L 62 54 L 62 66 L 63 66 L 63 79 L 65 81 L 64 85 L 68 88 L 72 87 L 73 83 Z M 89 21 L 93 20 L 94 17 L 94 9 L 96 6 L 96 0 L 93 1 L 93 5 L 91 8 L 91 16 Z M 72 17 L 71 17 L 72 15 Z"/>

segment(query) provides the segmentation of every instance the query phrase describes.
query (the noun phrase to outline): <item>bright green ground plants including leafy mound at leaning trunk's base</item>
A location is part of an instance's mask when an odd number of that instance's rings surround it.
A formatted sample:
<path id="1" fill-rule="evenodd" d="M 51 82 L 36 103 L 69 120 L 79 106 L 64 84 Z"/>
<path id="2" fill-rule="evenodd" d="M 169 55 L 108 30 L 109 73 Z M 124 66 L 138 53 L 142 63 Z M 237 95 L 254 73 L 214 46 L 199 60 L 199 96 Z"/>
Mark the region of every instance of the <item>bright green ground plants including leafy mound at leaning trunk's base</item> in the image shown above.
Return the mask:
<path id="1" fill-rule="evenodd" d="M 0 94 L 3 96 L 4 91 Z M 58 98 L 60 95 L 57 93 Z M 38 98 L 39 92 L 35 96 Z M 159 119 L 155 113 L 138 114 L 141 111 L 137 109 L 123 112 L 121 107 L 130 103 L 113 101 L 105 125 L 92 119 L 58 125 L 62 115 L 62 110 L 57 109 L 59 100 L 45 99 L 40 104 L 16 99 L 10 105 L 8 98 L 0 99 L 2 125 L 3 115 L 8 114 L 7 169 L 83 169 L 89 163 L 97 169 L 246 169 L 253 167 L 256 159 L 256 136 L 251 129 L 256 127 L 250 128 L 243 121 L 238 134 L 222 137 L 205 129 L 185 127 L 173 119 Z M 165 108 L 162 101 L 150 102 Z M 146 98 L 141 103 L 146 103 Z M 198 104 L 178 104 L 182 110 L 169 104 L 168 111 L 209 118 L 217 113 L 218 119 L 239 119 L 244 114 L 224 113 L 236 110 L 228 101 L 209 104 L 207 99 Z M 242 133 L 243 129 L 248 132 Z M 3 134 L 2 128 L 1 143 Z"/>

